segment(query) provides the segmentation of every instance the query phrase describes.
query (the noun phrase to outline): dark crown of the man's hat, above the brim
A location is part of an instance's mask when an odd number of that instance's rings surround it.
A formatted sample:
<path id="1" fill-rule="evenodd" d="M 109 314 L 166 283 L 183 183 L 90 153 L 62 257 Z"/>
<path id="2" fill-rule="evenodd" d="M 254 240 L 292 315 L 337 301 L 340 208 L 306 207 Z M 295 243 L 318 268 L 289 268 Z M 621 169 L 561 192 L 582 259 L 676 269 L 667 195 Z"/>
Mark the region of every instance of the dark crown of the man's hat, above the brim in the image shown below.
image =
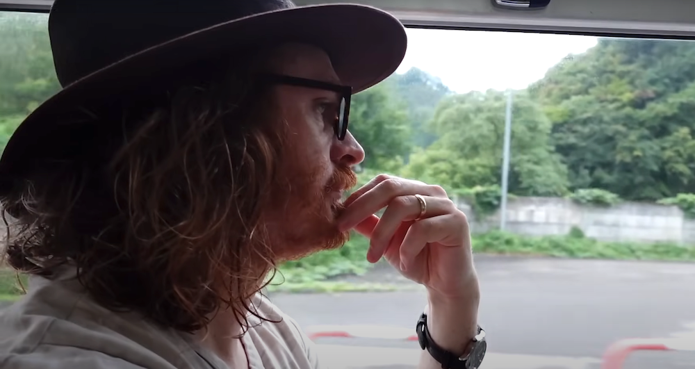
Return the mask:
<path id="1" fill-rule="evenodd" d="M 188 33 L 294 7 L 290 0 L 56 0 L 49 35 L 58 81 L 65 87 Z"/>

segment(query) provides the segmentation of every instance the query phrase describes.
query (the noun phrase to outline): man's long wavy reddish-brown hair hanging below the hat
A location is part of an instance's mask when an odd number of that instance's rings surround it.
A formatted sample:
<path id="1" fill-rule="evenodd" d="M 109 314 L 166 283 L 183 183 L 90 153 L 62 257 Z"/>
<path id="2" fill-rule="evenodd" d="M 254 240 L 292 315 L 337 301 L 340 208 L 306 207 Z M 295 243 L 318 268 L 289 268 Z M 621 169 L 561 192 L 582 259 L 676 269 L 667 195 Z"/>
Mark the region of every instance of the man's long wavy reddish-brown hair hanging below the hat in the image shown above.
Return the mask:
<path id="1" fill-rule="evenodd" d="M 6 262 L 49 279 L 74 265 L 99 304 L 165 327 L 197 331 L 232 309 L 247 329 L 276 267 L 261 218 L 286 133 L 252 58 L 222 59 L 90 110 L 82 154 L 46 158 L 0 194 Z"/>

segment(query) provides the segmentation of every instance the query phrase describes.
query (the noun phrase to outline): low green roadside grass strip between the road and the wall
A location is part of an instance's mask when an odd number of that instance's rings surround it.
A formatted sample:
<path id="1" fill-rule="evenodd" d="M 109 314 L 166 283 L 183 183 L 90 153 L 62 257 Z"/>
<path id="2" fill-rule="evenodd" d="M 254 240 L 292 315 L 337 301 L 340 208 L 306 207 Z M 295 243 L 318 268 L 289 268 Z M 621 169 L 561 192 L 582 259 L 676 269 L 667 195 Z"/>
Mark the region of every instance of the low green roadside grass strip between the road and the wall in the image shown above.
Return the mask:
<path id="1" fill-rule="evenodd" d="M 393 284 L 340 280 L 341 276 L 360 276 L 368 272 L 372 267 L 365 258 L 368 248 L 369 241 L 355 233 L 341 249 L 318 252 L 281 265 L 267 289 L 274 293 L 345 293 L 401 289 L 402 286 Z M 695 247 L 688 245 L 602 242 L 585 237 L 576 229 L 565 236 L 543 237 L 491 231 L 473 236 L 473 251 L 477 254 L 568 259 L 695 261 Z M 27 286 L 26 276 L 20 277 L 20 280 Z M 7 268 L 0 269 L 0 301 L 16 300 L 22 294 L 17 273 Z"/>

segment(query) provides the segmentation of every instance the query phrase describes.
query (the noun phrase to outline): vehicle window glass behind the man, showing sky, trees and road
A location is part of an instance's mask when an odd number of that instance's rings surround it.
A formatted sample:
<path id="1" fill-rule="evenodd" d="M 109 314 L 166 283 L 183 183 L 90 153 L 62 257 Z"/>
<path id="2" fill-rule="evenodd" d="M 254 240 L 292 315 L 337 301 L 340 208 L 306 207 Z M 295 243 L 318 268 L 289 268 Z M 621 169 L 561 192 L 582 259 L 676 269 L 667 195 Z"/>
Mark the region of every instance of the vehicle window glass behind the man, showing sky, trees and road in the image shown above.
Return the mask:
<path id="1" fill-rule="evenodd" d="M 693 347 L 695 44 L 408 33 L 398 72 L 353 97 L 350 129 L 367 154 L 356 170 L 360 183 L 385 172 L 440 184 L 468 215 L 483 367 L 598 368 L 633 337 Z M 0 12 L 0 148 L 58 90 L 47 15 Z M 333 368 L 414 368 L 420 350 L 404 338 L 425 291 L 368 263 L 368 247 L 354 235 L 287 263 L 268 295 L 309 331 L 403 338 L 317 339 Z M 17 295 L 0 269 L 0 304 Z M 639 352 L 625 368 L 681 368 L 687 355 Z"/>

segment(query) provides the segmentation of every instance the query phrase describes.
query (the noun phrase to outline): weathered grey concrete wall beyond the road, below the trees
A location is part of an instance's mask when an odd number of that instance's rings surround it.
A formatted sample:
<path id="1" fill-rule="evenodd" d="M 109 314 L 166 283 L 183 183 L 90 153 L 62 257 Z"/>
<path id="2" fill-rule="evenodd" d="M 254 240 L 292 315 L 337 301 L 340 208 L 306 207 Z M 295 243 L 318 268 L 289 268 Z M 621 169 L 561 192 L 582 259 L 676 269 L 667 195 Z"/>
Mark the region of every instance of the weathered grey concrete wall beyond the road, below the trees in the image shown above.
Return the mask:
<path id="1" fill-rule="evenodd" d="M 458 205 L 469 215 L 474 233 L 498 229 L 499 211 L 480 219 L 465 202 L 459 200 Z M 508 231 L 531 236 L 562 235 L 572 227 L 598 240 L 695 245 L 695 220 L 685 218 L 677 206 L 626 202 L 603 208 L 557 197 L 518 197 L 507 202 Z"/>

